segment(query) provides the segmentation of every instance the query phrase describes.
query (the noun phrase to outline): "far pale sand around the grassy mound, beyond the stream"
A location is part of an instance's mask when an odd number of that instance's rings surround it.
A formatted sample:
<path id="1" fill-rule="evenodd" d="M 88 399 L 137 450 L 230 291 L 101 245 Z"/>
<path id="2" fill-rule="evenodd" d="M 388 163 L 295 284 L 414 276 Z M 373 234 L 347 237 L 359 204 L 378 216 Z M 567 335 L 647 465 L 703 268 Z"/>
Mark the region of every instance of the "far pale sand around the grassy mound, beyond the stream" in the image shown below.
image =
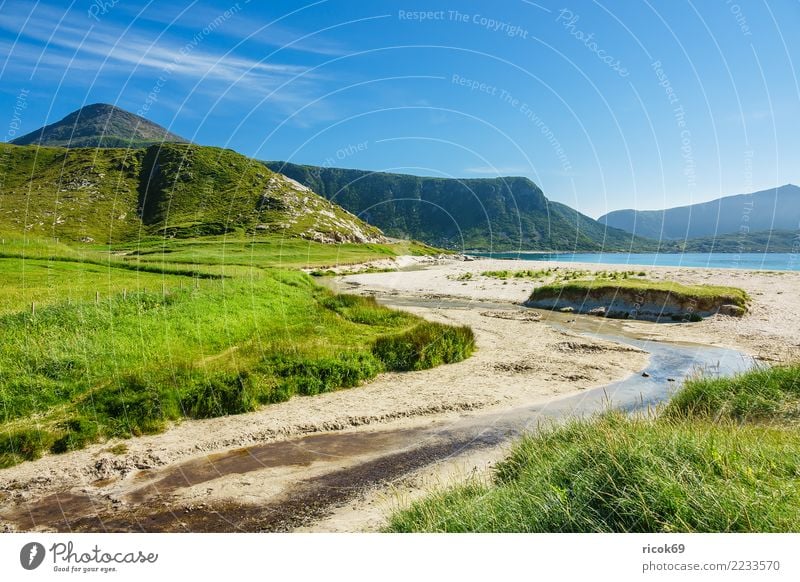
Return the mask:
<path id="1" fill-rule="evenodd" d="M 343 292 L 374 294 L 377 297 L 423 297 L 458 301 L 491 301 L 521 306 L 537 283 L 509 278 L 482 277 L 483 271 L 559 268 L 589 272 L 626 271 L 628 265 L 480 259 L 432 265 L 422 271 L 348 275 L 338 280 Z M 624 320 L 620 329 L 660 341 L 723 346 L 746 352 L 769 362 L 800 359 L 800 272 L 708 269 L 703 267 L 646 267 L 647 278 L 671 280 L 687 285 L 713 284 L 744 289 L 751 297 L 750 312 L 742 318 L 713 316 L 690 324 Z M 470 274 L 470 278 L 463 277 Z M 460 279 L 461 277 L 461 279 Z M 549 313 L 549 312 L 544 312 Z M 592 318 L 594 321 L 608 321 Z"/>

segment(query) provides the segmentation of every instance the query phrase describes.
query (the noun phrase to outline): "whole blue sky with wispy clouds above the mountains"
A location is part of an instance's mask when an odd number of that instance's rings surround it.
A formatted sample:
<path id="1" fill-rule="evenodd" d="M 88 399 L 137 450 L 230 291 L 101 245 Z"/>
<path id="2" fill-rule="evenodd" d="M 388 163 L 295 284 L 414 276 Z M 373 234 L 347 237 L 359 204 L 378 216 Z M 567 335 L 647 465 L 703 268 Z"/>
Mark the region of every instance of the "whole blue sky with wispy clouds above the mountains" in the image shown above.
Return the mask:
<path id="1" fill-rule="evenodd" d="M 798 25 L 796 0 L 0 0 L 0 131 L 114 103 L 259 159 L 528 176 L 597 217 L 800 183 Z"/>

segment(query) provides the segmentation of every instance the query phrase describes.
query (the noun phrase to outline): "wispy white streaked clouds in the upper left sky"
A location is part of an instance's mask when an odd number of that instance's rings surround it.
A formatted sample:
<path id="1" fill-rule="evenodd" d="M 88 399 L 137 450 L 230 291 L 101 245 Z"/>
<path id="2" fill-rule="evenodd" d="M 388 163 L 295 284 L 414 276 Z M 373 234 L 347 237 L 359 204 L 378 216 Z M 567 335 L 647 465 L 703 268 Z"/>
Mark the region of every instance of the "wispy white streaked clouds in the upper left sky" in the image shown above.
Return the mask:
<path id="1" fill-rule="evenodd" d="M 192 16 L 192 26 L 164 32 L 148 31 L 147 27 L 126 30 L 105 20 L 92 26 L 85 13 L 65 14 L 47 5 L 39 5 L 19 30 L 24 18 L 15 18 L 15 11 L 22 17 L 24 7 L 12 4 L 8 14 L 4 8 L 0 30 L 14 36 L 19 33 L 19 38 L 13 48 L 11 40 L 0 40 L 0 49 L 9 55 L 7 71 L 17 75 L 52 76 L 56 80 L 65 71 L 79 73 L 67 78 L 74 84 L 109 75 L 122 79 L 144 75 L 153 81 L 166 75 L 171 84 L 194 87 L 194 93 L 221 95 L 235 87 L 227 92 L 227 99 L 256 101 L 274 91 L 270 103 L 286 112 L 314 99 L 319 84 L 325 81 L 323 75 L 302 64 L 252 58 L 252 53 L 243 51 L 226 52 L 224 47 L 235 43 L 226 42 L 221 47 L 218 35 L 222 31 L 240 34 L 241 21 L 234 18 L 241 13 L 220 20 L 217 18 L 224 10 L 204 8 L 202 14 Z M 243 16 L 242 20 L 247 20 Z M 209 22 L 215 22 L 214 26 L 209 27 Z"/>

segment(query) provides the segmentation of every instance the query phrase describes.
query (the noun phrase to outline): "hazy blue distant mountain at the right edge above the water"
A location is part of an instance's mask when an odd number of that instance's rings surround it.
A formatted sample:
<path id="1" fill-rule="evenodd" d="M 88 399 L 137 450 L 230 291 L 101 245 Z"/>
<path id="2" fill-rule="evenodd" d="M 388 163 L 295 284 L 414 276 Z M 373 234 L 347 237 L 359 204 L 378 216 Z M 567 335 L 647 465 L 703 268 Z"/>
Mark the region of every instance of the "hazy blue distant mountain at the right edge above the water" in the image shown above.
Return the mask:
<path id="1" fill-rule="evenodd" d="M 667 210 L 616 210 L 600 222 L 639 236 L 684 239 L 800 228 L 800 188 L 792 184 Z"/>

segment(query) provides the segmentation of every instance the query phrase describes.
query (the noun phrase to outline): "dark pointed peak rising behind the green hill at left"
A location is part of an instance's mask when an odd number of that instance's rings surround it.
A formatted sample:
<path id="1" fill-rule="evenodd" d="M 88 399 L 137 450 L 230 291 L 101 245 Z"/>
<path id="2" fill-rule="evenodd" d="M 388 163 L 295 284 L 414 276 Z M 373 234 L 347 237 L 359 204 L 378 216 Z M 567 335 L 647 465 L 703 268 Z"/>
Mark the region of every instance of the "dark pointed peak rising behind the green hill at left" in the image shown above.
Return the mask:
<path id="1" fill-rule="evenodd" d="M 73 111 L 61 121 L 18 137 L 11 143 L 68 148 L 141 148 L 164 142 L 187 141 L 144 117 L 114 105 L 95 103 Z"/>

